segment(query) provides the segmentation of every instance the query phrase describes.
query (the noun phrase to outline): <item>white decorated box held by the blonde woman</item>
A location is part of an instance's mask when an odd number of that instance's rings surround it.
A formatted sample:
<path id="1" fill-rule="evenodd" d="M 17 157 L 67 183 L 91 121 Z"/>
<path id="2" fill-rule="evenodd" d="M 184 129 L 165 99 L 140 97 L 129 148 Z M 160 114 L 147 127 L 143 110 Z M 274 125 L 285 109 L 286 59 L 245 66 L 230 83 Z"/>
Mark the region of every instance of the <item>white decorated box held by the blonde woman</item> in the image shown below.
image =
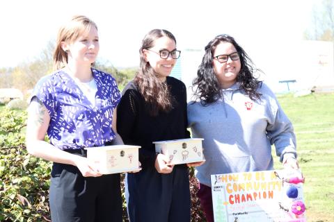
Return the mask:
<path id="1" fill-rule="evenodd" d="M 102 174 L 139 170 L 138 148 L 141 146 L 112 145 L 88 147 L 88 163 Z"/>

